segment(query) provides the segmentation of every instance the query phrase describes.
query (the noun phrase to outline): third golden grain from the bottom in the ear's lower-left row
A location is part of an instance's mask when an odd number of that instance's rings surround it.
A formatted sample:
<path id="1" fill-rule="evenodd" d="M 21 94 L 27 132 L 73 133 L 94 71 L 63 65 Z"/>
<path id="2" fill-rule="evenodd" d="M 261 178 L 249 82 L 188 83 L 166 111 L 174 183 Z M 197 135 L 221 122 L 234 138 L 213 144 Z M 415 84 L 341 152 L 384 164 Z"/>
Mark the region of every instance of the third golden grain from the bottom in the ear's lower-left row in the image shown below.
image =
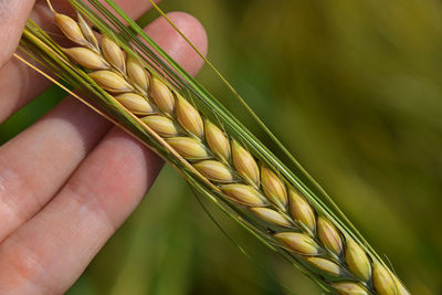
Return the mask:
<path id="1" fill-rule="evenodd" d="M 283 244 L 302 255 L 318 255 L 319 245 L 308 235 L 298 232 L 280 232 L 274 234 Z"/>

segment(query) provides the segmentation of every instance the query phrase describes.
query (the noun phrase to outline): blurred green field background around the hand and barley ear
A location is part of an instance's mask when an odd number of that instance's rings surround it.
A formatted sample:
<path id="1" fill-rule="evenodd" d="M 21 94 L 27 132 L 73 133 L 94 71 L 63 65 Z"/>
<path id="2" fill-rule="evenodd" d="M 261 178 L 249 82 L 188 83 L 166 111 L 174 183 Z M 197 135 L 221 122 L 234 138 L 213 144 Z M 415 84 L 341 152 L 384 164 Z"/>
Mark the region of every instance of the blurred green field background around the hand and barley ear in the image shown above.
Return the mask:
<path id="1" fill-rule="evenodd" d="M 412 293 L 442 294 L 442 2 L 166 0 L 161 8 L 203 23 L 209 59 Z M 199 77 L 228 97 L 208 69 Z M 0 140 L 57 96 L 42 95 L 2 124 Z M 236 102 L 223 103 L 236 109 Z M 296 294 L 320 293 L 215 215 Z M 266 272 L 218 230 L 167 167 L 67 294 L 287 293 Z"/>

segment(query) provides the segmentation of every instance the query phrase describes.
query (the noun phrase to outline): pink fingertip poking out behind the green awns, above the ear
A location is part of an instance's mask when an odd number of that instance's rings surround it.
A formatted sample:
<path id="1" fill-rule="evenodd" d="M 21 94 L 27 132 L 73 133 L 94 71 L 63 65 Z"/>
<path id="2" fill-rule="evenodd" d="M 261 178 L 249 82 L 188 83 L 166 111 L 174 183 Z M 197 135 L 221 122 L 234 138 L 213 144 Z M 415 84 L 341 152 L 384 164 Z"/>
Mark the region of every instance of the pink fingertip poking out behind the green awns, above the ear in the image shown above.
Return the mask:
<path id="1" fill-rule="evenodd" d="M 202 24 L 194 17 L 180 11 L 169 12 L 167 18 L 206 56 L 208 38 Z M 158 18 L 145 31 L 187 72 L 194 75 L 201 70 L 204 61 L 165 18 Z"/>

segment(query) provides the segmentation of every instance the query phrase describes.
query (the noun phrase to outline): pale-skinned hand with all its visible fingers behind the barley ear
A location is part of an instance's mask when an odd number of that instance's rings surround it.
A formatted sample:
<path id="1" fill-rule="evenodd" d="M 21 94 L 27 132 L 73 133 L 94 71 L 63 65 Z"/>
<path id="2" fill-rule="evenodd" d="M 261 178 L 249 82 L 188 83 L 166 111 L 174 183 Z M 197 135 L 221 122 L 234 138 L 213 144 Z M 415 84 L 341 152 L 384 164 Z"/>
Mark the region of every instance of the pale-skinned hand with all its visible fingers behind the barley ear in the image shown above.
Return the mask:
<path id="1" fill-rule="evenodd" d="M 64 1 L 55 10 L 70 13 Z M 145 0 L 119 0 L 137 18 Z M 49 83 L 23 66 L 15 51 L 32 17 L 57 32 L 44 1 L 0 0 L 0 122 Z M 182 12 L 169 18 L 203 53 L 201 24 Z M 158 19 L 146 28 L 187 71 L 202 66 L 188 44 Z M 0 293 L 61 294 L 141 201 L 162 161 L 72 97 L 0 147 Z"/>

